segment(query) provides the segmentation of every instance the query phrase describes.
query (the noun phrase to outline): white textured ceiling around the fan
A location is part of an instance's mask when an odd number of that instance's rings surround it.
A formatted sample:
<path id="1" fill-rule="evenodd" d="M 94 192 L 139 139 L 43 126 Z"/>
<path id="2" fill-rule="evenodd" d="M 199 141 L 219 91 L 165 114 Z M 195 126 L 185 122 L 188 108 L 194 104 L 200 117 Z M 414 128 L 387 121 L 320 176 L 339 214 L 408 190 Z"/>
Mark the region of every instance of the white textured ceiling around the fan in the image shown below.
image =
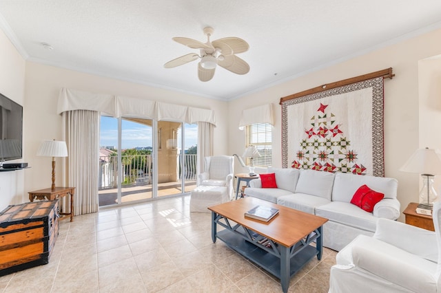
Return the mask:
<path id="1" fill-rule="evenodd" d="M 229 100 L 440 28 L 441 1 L 0 0 L 0 26 L 30 61 Z M 198 61 L 163 67 L 198 53 L 172 37 L 205 43 L 205 26 L 249 43 L 248 74 L 218 67 L 203 83 Z"/>

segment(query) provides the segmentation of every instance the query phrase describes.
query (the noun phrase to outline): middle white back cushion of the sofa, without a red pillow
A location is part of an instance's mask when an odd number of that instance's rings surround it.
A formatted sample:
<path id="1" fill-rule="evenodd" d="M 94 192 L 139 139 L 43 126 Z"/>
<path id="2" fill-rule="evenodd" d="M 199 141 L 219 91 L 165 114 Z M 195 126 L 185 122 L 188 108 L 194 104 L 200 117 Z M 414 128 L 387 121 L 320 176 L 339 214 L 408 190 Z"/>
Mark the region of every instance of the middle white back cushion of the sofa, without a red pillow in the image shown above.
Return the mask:
<path id="1" fill-rule="evenodd" d="M 334 173 L 300 169 L 296 193 L 306 193 L 308 195 L 315 195 L 331 200 L 334 177 Z"/>

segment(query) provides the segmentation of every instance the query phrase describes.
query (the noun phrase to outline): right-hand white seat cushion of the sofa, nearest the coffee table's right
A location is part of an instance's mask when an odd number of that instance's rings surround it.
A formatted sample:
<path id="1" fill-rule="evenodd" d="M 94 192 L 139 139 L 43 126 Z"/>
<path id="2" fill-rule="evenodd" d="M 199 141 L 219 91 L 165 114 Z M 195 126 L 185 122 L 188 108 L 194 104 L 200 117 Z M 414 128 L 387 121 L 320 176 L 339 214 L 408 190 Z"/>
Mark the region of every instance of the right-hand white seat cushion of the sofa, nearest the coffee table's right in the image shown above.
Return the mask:
<path id="1" fill-rule="evenodd" d="M 330 202 L 316 208 L 316 215 L 354 228 L 375 232 L 377 218 L 349 202 Z"/>

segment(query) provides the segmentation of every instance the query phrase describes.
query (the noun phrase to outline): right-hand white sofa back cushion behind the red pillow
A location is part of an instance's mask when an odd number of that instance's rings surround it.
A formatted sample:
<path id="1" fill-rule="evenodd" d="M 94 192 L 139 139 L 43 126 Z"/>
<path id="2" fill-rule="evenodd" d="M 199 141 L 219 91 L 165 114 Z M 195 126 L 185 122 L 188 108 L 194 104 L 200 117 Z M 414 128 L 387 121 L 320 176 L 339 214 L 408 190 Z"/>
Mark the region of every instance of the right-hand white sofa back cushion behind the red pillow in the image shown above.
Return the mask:
<path id="1" fill-rule="evenodd" d="M 384 198 L 396 198 L 398 181 L 389 177 L 369 175 L 353 175 L 351 173 L 336 173 L 332 190 L 333 202 L 351 202 L 351 199 L 362 185 L 367 185 L 373 191 L 383 193 Z"/>

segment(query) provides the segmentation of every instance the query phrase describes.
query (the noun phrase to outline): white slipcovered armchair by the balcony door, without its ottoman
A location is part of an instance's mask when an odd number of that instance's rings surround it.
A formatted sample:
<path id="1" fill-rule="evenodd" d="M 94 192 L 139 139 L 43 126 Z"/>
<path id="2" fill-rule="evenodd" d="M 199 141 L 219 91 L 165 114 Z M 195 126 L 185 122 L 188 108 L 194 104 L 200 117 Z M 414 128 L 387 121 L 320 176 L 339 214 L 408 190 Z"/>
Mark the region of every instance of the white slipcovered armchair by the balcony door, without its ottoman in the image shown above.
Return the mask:
<path id="1" fill-rule="evenodd" d="M 227 196 L 233 194 L 234 157 L 229 155 L 217 155 L 204 158 L 204 172 L 199 174 L 198 185 L 226 186 Z"/>

